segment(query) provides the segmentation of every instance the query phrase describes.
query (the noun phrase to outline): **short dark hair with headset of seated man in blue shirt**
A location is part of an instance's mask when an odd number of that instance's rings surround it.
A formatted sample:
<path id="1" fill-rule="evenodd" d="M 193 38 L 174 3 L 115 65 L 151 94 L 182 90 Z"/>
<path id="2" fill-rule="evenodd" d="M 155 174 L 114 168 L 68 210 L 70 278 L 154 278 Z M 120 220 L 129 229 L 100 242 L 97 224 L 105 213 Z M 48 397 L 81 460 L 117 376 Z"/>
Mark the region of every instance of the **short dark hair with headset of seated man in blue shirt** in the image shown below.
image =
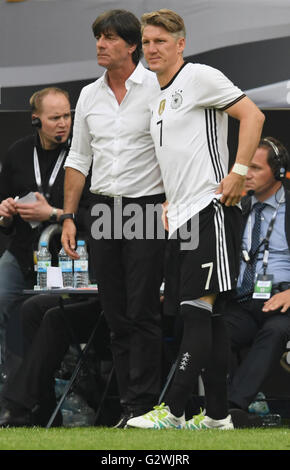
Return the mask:
<path id="1" fill-rule="evenodd" d="M 288 150 L 278 139 L 274 137 L 263 137 L 258 147 L 268 150 L 267 161 L 273 174 L 275 174 L 281 166 L 285 168 L 286 171 L 290 170 L 290 156 Z"/>

